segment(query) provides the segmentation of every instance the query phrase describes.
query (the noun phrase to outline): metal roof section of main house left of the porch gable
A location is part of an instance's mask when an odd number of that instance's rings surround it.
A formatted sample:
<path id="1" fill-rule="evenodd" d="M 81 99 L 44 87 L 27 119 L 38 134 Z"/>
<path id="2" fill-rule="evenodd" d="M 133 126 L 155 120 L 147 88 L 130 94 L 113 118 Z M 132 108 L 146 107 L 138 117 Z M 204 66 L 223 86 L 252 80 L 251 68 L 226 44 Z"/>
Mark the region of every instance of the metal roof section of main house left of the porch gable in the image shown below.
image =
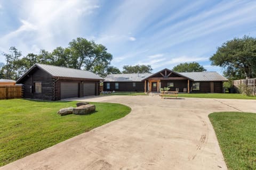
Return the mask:
<path id="1" fill-rule="evenodd" d="M 151 73 L 134 73 L 134 74 L 108 74 L 105 81 L 142 81 L 152 75 Z"/>

